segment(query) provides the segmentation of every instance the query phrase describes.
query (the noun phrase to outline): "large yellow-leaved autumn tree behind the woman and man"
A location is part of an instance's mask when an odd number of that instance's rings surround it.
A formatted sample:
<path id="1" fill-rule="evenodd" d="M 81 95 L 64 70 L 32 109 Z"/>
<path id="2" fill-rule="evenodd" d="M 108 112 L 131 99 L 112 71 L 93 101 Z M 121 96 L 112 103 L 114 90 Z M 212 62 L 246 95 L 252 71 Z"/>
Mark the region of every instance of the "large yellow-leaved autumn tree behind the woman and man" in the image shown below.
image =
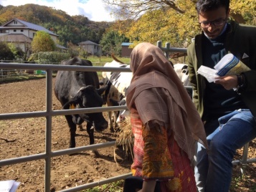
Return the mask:
<path id="1" fill-rule="evenodd" d="M 128 37 L 133 46 L 139 42 L 163 44 L 170 42 L 172 47 L 187 47 L 191 39 L 201 32 L 194 0 L 103 0 L 112 6 L 118 20 L 115 31 Z M 233 0 L 230 4 L 231 19 L 245 24 L 255 24 L 255 0 Z M 127 24 L 127 22 L 129 23 Z"/>

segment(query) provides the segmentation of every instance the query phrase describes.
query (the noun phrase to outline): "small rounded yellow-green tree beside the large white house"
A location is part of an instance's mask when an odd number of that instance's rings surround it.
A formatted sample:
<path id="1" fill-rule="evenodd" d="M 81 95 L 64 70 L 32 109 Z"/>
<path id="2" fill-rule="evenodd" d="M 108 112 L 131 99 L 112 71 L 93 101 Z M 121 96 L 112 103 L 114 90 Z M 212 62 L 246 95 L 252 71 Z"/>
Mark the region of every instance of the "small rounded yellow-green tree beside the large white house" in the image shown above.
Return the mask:
<path id="1" fill-rule="evenodd" d="M 55 50 L 55 43 L 47 32 L 38 31 L 31 43 L 32 52 L 52 52 Z"/>

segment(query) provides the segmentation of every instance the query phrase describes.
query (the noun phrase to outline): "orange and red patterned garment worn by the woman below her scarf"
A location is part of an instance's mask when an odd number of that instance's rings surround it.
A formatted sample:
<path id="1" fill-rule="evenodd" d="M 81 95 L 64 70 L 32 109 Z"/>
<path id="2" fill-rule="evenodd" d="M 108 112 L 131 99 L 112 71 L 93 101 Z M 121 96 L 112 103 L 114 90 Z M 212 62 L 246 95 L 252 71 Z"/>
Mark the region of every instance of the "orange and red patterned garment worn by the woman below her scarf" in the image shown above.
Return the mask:
<path id="1" fill-rule="evenodd" d="M 135 110 L 131 111 L 131 126 L 135 138 L 133 176 L 161 181 L 162 192 L 195 192 L 194 168 L 174 135 L 168 136 L 165 128 L 146 129 Z"/>

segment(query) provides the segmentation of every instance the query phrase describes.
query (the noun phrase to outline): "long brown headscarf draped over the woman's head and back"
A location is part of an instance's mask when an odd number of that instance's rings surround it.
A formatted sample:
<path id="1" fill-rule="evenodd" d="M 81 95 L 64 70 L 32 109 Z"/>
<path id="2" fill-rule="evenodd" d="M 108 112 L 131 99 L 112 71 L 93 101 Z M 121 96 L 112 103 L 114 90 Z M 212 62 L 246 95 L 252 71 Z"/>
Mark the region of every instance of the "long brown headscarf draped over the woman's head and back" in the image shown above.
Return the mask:
<path id="1" fill-rule="evenodd" d="M 207 146 L 204 125 L 169 60 L 160 48 L 150 43 L 141 43 L 131 52 L 131 71 L 133 78 L 126 99 L 128 109 L 136 108 L 143 112 L 141 120 L 149 128 L 154 123 L 170 128 L 179 147 L 192 159 L 195 140 Z M 166 100 L 156 100 L 156 95 L 146 91 L 156 88 L 160 88 Z M 153 92 L 158 94 L 156 90 Z M 138 95 L 142 99 L 137 102 L 139 106 L 135 106 Z"/>

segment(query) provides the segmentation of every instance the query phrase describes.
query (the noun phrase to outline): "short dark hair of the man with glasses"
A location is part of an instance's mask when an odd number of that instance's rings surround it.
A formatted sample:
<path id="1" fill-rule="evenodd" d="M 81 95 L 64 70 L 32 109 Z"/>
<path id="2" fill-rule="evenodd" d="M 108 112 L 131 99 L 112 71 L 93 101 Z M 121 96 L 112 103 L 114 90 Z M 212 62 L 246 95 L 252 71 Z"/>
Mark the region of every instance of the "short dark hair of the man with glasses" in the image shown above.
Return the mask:
<path id="1" fill-rule="evenodd" d="M 205 11 L 212 11 L 224 6 L 226 11 L 229 10 L 229 0 L 198 0 L 196 2 L 197 14 Z"/>

